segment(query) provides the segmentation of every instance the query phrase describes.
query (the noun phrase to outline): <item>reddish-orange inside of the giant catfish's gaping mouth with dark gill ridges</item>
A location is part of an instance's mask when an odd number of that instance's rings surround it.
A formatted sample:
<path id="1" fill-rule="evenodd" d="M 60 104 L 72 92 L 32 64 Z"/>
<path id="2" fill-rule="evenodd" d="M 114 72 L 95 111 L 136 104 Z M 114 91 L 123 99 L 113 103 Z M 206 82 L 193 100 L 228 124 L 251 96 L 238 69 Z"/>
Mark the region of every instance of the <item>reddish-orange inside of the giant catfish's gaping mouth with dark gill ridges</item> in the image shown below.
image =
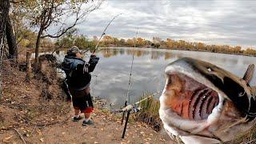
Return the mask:
<path id="1" fill-rule="evenodd" d="M 186 74 L 167 74 L 165 95 L 168 106 L 180 117 L 205 120 L 218 105 L 218 93 Z M 170 99 L 169 99 L 170 98 Z"/>

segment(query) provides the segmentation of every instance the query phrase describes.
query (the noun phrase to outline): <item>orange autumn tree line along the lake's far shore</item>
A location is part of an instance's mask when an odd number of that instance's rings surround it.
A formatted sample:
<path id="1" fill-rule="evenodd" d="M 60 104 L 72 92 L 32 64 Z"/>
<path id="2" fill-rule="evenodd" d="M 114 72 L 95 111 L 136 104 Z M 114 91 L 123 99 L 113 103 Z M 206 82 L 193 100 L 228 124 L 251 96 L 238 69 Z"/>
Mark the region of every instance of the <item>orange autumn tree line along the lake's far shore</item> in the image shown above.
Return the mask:
<path id="1" fill-rule="evenodd" d="M 97 42 L 97 37 L 94 36 L 94 42 Z M 194 51 L 209 51 L 213 53 L 225 53 L 225 54 L 244 54 L 256 56 L 256 49 L 246 48 L 242 49 L 242 46 L 229 46 L 229 45 L 209 45 L 203 42 L 186 42 L 184 40 L 174 40 L 171 38 L 153 37 L 152 40 L 146 40 L 145 38 L 114 38 L 110 35 L 106 35 L 100 42 L 101 46 L 130 46 L 133 47 L 150 47 L 150 48 L 162 48 L 172 50 L 194 50 Z"/>

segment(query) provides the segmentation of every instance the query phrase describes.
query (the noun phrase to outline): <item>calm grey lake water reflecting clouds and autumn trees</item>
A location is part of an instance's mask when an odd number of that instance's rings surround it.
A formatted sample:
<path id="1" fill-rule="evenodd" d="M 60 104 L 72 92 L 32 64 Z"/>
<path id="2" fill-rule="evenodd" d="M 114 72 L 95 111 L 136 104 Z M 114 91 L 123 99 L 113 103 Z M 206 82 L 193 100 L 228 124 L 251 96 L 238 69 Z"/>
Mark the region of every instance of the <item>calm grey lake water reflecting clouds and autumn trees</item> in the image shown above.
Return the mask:
<path id="1" fill-rule="evenodd" d="M 143 93 L 162 92 L 165 84 L 164 70 L 168 63 L 178 58 L 191 57 L 211 62 L 233 74 L 242 77 L 247 66 L 256 65 L 255 57 L 234 54 L 215 54 L 208 52 L 183 50 L 156 50 L 149 48 L 109 48 L 98 52 L 98 65 L 92 73 L 91 93 L 117 106 L 123 105 L 126 100 L 130 66 L 134 54 L 134 65 L 130 83 L 131 103 L 139 100 Z M 64 58 L 65 52 L 56 54 L 59 61 Z M 89 54 L 85 59 L 89 59 Z M 256 74 L 251 84 L 256 84 Z M 160 94 L 156 96 L 159 97 Z"/>

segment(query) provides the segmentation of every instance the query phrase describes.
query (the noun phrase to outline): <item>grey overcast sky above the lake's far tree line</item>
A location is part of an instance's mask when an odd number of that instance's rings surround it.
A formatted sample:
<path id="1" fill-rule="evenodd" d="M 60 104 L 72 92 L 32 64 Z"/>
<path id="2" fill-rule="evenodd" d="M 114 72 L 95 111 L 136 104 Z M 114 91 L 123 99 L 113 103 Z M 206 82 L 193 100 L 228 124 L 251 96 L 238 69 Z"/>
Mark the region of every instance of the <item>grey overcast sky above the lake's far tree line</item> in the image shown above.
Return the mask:
<path id="1" fill-rule="evenodd" d="M 100 36 L 107 23 L 122 13 L 106 34 L 117 38 L 183 39 L 190 42 L 256 46 L 256 2 L 254 1 L 173 1 L 106 0 L 86 22 L 79 34 Z"/>

